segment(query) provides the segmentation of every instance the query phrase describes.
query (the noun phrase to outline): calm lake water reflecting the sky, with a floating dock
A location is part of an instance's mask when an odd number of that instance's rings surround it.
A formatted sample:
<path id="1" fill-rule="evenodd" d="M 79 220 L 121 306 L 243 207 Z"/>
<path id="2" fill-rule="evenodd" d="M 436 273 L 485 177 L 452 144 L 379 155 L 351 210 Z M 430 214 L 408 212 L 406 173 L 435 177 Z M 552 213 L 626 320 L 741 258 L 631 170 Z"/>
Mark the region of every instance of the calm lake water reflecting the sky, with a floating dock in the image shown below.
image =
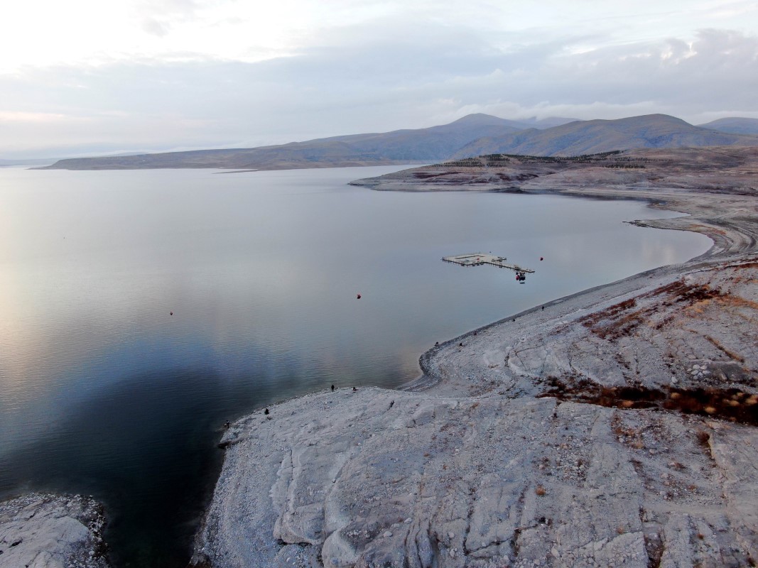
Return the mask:
<path id="1" fill-rule="evenodd" d="M 95 495 L 120 566 L 185 566 L 224 420 L 710 246 L 634 201 L 346 185 L 399 169 L 0 170 L 0 496 Z M 537 273 L 440 261 L 476 251 Z"/>

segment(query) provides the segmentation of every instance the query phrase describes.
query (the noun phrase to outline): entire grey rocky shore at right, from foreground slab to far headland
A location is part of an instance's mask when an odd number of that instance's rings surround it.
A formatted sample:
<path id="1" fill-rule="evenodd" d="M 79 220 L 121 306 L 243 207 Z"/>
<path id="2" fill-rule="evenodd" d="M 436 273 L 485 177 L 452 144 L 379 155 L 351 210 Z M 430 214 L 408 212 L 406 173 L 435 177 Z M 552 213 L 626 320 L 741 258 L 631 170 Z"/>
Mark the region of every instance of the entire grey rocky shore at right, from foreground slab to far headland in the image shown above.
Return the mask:
<path id="1" fill-rule="evenodd" d="M 639 224 L 713 248 L 452 339 L 402 391 L 234 423 L 192 565 L 755 566 L 758 152 L 642 153 L 660 167 L 445 189 L 647 199 L 688 215 Z M 434 168 L 359 183 L 434 190 Z"/>

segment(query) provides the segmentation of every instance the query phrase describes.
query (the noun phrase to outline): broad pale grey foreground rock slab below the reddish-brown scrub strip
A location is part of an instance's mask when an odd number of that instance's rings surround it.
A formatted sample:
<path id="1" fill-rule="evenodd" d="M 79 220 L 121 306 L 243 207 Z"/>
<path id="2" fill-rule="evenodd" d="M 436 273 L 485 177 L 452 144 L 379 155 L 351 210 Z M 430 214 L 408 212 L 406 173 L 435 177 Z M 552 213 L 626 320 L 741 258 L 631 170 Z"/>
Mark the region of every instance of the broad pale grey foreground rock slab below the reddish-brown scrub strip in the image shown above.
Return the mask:
<path id="1" fill-rule="evenodd" d="M 302 566 L 319 553 L 324 566 L 745 566 L 756 554 L 751 426 L 705 426 L 703 447 L 700 417 L 379 389 L 272 414 L 228 438 L 202 535 L 211 566 L 289 566 L 283 544 Z"/>

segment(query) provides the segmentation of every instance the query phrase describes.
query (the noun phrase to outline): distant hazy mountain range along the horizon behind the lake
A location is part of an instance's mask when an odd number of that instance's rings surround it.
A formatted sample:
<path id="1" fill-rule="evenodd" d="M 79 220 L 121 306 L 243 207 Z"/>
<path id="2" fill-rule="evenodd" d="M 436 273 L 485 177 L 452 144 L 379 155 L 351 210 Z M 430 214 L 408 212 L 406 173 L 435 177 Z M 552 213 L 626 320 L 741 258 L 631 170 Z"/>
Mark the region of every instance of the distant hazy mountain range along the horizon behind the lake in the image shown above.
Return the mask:
<path id="1" fill-rule="evenodd" d="M 618 120 L 572 120 L 554 117 L 522 121 L 506 120 L 488 114 L 469 114 L 453 123 L 418 130 L 333 136 L 258 148 L 70 158 L 59 160 L 42 169 L 134 170 L 205 167 L 284 170 L 303 167 L 418 164 L 497 153 L 571 156 L 629 148 L 758 146 L 758 134 L 750 131 L 752 120 L 721 119 L 707 125 L 693 126 L 666 114 L 649 114 Z"/>

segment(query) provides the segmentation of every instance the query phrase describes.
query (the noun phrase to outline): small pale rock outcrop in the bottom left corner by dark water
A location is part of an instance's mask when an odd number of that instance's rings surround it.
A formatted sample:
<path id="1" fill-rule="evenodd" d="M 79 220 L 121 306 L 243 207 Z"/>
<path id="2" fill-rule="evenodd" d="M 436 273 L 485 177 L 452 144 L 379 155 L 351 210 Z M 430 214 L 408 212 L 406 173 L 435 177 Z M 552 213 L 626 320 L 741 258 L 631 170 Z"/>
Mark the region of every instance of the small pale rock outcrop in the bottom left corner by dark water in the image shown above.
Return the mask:
<path id="1" fill-rule="evenodd" d="M 0 502 L 0 566 L 108 568 L 102 507 L 80 495 L 30 493 Z"/>

